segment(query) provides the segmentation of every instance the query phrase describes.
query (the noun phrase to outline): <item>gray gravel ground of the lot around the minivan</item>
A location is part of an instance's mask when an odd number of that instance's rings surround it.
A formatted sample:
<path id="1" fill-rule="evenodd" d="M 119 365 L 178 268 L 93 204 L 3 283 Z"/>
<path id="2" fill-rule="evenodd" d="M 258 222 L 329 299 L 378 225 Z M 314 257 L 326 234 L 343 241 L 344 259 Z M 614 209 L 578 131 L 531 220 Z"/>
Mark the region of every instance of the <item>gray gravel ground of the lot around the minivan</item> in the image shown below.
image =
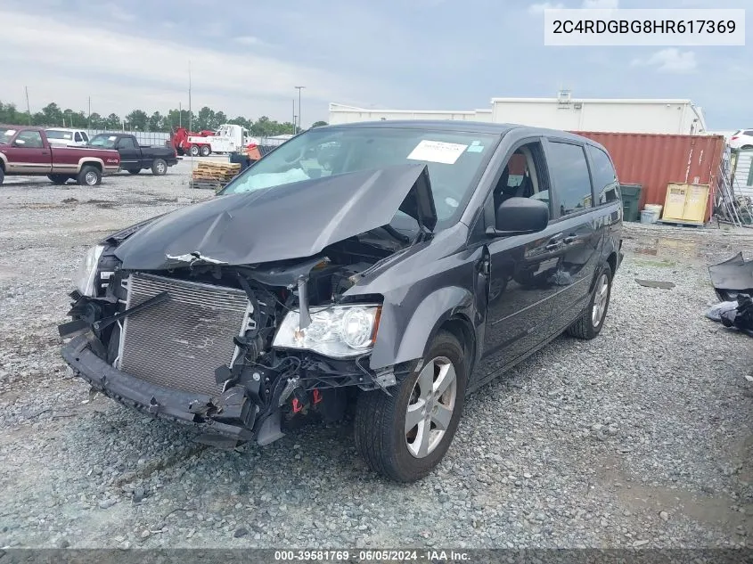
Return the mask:
<path id="1" fill-rule="evenodd" d="M 445 462 L 400 486 L 348 422 L 217 451 L 90 398 L 61 361 L 86 247 L 208 197 L 188 171 L 0 189 L 0 547 L 753 546 L 753 341 L 703 317 L 705 265 L 753 257 L 750 231 L 626 225 L 600 338 L 480 390 Z"/>

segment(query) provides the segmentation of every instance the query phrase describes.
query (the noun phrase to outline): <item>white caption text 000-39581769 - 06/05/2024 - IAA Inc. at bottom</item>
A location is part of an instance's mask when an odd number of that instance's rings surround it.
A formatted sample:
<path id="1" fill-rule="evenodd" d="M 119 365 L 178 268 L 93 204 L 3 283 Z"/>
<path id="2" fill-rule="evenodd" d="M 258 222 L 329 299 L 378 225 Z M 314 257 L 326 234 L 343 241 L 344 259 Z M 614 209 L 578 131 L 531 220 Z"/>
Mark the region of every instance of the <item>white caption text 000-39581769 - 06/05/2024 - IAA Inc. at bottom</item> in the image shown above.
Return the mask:
<path id="1" fill-rule="evenodd" d="M 353 561 L 359 562 L 469 562 L 468 552 L 455 550 L 356 550 L 356 551 L 275 551 L 276 562 Z"/>

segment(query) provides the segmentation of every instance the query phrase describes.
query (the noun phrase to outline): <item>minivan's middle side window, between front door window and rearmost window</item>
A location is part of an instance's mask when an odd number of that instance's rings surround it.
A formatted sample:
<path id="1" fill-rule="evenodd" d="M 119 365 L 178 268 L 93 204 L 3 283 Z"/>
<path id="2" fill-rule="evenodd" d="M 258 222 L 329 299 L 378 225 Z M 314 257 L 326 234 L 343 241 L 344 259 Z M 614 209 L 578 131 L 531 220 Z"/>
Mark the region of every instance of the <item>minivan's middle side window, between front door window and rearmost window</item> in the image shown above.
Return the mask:
<path id="1" fill-rule="evenodd" d="M 549 142 L 549 149 L 549 171 L 560 202 L 560 216 L 591 208 L 591 176 L 583 147 Z"/>

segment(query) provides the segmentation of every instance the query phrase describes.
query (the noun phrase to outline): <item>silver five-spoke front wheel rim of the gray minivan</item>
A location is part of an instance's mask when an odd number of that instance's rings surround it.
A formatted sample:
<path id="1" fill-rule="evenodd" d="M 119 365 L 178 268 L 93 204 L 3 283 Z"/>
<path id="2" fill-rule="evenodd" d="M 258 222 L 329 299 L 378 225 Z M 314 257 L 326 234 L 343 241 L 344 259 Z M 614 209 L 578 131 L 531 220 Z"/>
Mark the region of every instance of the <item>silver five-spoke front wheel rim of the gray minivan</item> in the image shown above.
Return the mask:
<path id="1" fill-rule="evenodd" d="M 427 363 L 413 386 L 405 413 L 405 445 L 416 458 L 431 454 L 452 421 L 457 374 L 449 358 Z"/>

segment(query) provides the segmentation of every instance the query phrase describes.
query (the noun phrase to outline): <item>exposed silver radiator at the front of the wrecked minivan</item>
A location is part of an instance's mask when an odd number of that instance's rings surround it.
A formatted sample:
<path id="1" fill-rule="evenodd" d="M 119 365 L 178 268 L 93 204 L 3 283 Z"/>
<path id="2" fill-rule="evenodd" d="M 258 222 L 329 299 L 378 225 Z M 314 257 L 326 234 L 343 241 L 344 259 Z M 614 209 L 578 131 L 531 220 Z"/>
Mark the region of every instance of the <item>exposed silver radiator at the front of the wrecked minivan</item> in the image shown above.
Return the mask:
<path id="1" fill-rule="evenodd" d="M 249 299 L 233 288 L 131 274 L 126 307 L 163 291 L 168 299 L 125 318 L 119 369 L 165 388 L 220 394 L 215 369 L 233 358 L 233 337 L 249 323 Z"/>

